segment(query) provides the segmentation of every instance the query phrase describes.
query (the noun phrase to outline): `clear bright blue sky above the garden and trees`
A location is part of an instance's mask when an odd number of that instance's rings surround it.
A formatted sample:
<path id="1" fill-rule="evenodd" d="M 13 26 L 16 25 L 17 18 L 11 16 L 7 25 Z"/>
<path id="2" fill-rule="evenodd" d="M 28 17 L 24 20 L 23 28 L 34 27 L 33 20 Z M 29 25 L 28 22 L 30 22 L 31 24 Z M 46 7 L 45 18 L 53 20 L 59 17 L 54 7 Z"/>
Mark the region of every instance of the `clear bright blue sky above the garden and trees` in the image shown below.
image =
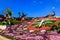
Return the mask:
<path id="1" fill-rule="evenodd" d="M 53 8 L 56 16 L 60 16 L 60 0 L 0 0 L 0 14 L 3 14 L 7 7 L 16 17 L 19 11 L 30 17 L 42 17 L 52 13 Z"/>

